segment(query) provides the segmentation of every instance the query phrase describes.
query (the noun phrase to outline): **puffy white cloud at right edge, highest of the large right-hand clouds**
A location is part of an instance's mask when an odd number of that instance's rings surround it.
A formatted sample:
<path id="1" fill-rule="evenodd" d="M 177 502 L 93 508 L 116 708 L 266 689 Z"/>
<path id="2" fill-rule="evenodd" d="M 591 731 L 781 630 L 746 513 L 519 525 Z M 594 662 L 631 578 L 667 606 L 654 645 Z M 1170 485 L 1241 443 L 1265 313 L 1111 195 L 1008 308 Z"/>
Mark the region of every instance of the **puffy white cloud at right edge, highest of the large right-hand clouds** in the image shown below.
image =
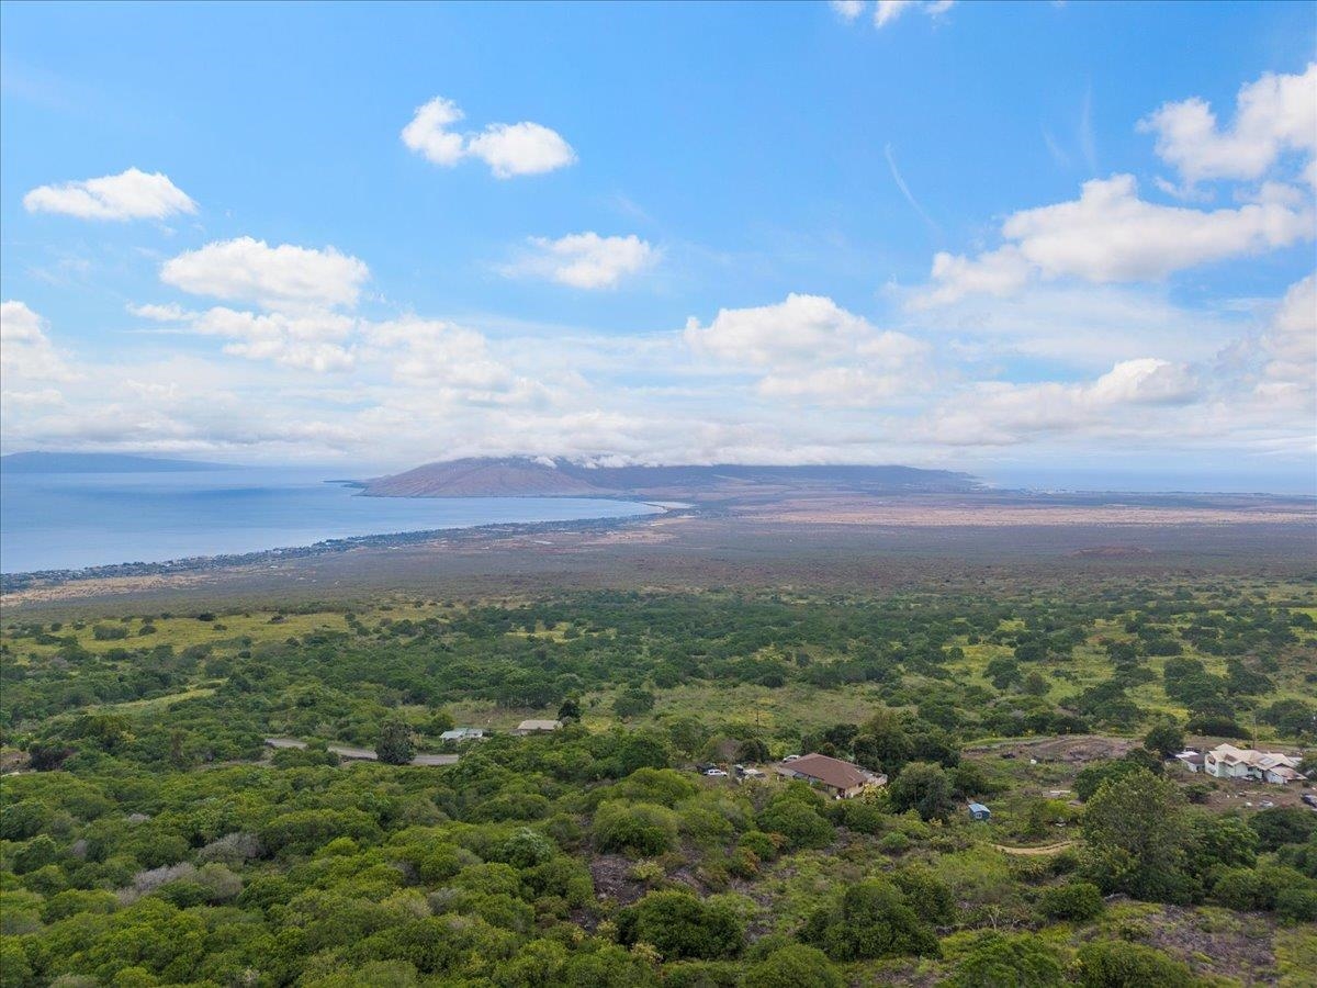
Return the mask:
<path id="1" fill-rule="evenodd" d="M 1156 153 L 1192 187 L 1205 179 L 1259 179 L 1285 153 L 1304 157 L 1309 180 L 1317 155 L 1317 63 L 1300 75 L 1266 74 L 1239 90 L 1229 128 L 1206 100 L 1164 103 L 1139 121 L 1156 134 Z"/>

